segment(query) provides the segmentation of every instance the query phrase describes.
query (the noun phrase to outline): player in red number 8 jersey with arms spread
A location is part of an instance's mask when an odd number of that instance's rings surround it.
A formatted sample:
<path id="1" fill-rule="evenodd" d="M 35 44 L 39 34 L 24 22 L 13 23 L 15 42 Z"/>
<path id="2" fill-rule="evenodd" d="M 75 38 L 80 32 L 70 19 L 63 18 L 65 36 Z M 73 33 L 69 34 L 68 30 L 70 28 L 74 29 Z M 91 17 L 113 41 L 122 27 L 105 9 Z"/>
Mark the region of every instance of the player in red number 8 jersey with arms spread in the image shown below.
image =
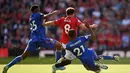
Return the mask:
<path id="1" fill-rule="evenodd" d="M 61 36 L 61 43 L 67 44 L 70 41 L 70 38 L 68 36 L 68 31 L 70 29 L 73 29 L 76 31 L 76 34 L 78 32 L 78 27 L 87 30 L 87 27 L 84 23 L 82 23 L 76 16 L 75 16 L 75 9 L 73 7 L 68 7 L 66 9 L 66 17 L 61 17 L 58 20 L 54 21 L 47 21 L 43 24 L 43 26 L 50 26 L 50 25 L 56 25 L 59 26 L 62 29 L 62 36 Z M 90 25 L 90 28 L 96 28 L 98 25 L 93 24 Z M 61 51 L 56 52 L 56 61 L 58 61 L 62 56 Z M 71 59 L 74 59 L 75 56 L 70 56 Z"/>

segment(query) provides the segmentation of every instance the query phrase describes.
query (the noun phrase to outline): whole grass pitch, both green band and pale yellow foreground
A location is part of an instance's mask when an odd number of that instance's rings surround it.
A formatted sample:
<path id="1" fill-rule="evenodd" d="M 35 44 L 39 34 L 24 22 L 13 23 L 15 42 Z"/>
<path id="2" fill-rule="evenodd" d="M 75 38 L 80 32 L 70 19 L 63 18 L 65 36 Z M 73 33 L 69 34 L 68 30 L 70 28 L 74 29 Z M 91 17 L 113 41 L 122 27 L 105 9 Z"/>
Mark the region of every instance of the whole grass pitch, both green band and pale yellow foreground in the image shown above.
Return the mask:
<path id="1" fill-rule="evenodd" d="M 0 73 L 5 64 L 10 62 L 15 57 L 0 58 Z M 101 73 L 130 73 L 130 58 L 121 58 L 120 62 L 102 61 L 108 65 L 108 70 L 102 70 Z M 38 58 L 28 57 L 19 64 L 9 69 L 8 73 L 51 73 L 51 65 L 55 63 L 54 57 Z M 78 59 L 73 60 L 71 65 L 67 66 L 64 71 L 57 73 L 94 73 L 87 71 Z"/>

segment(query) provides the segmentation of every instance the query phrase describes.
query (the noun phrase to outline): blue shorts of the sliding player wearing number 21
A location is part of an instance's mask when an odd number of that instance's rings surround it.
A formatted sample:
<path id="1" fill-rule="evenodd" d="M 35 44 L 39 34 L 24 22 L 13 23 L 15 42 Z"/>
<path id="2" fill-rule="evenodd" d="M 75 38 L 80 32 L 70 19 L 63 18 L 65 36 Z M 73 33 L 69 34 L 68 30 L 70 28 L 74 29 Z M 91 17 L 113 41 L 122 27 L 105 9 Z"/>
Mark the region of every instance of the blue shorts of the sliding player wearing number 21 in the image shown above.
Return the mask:
<path id="1" fill-rule="evenodd" d="M 97 55 L 94 50 L 88 50 L 86 52 L 86 55 L 84 58 L 81 58 L 80 61 L 82 64 L 88 65 L 88 66 L 95 66 L 95 59 Z"/>

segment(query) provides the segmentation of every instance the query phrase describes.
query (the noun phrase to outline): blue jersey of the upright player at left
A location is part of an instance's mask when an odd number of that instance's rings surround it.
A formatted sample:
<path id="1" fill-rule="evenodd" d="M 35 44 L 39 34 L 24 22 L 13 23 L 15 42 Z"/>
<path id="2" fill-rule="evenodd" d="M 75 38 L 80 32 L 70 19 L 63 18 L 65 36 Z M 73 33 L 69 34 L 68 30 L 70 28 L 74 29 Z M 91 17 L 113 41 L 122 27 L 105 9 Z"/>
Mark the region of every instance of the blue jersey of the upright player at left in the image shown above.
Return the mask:
<path id="1" fill-rule="evenodd" d="M 43 24 L 43 13 L 33 13 L 30 16 L 30 26 L 31 26 L 31 39 L 46 37 L 45 27 Z"/>

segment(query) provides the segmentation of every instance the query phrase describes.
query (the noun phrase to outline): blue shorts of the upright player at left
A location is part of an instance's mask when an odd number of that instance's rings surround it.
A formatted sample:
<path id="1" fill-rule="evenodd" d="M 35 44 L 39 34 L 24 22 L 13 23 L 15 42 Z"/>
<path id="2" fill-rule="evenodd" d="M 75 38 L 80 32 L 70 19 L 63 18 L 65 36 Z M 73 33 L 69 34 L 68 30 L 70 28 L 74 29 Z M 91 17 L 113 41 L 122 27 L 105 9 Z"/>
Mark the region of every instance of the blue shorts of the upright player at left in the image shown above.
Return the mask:
<path id="1" fill-rule="evenodd" d="M 30 39 L 26 47 L 26 51 L 35 52 L 39 47 L 43 48 L 54 48 L 56 45 L 56 40 L 51 38 L 40 38 L 37 40 Z"/>

